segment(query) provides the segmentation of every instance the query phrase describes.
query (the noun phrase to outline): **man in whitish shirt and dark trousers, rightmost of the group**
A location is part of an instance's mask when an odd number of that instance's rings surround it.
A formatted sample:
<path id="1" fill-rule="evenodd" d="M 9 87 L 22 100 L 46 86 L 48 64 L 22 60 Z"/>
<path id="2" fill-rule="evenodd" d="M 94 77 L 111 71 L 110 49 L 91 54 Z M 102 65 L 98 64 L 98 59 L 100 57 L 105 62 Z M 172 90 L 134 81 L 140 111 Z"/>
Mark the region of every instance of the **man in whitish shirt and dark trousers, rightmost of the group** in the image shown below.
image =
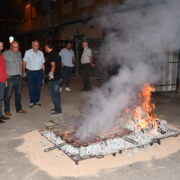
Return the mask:
<path id="1" fill-rule="evenodd" d="M 83 79 L 84 88 L 82 91 L 90 91 L 91 83 L 90 83 L 90 71 L 91 67 L 95 66 L 92 58 L 92 51 L 88 47 L 88 43 L 86 41 L 82 42 L 83 53 L 81 56 L 81 76 Z"/>

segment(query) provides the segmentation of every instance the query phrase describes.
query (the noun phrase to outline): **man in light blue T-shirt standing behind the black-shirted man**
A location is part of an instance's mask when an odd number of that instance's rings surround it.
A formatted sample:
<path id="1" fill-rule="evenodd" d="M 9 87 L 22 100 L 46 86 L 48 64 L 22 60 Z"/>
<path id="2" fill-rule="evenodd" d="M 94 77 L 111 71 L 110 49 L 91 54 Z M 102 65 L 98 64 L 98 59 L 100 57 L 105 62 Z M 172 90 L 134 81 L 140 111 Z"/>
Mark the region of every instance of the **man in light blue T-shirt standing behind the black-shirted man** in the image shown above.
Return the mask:
<path id="1" fill-rule="evenodd" d="M 66 91 L 71 91 L 69 88 L 70 79 L 75 64 L 74 51 L 72 50 L 72 44 L 68 42 L 66 48 L 62 49 L 59 53 L 62 59 L 62 81 L 61 90 L 65 87 Z"/>

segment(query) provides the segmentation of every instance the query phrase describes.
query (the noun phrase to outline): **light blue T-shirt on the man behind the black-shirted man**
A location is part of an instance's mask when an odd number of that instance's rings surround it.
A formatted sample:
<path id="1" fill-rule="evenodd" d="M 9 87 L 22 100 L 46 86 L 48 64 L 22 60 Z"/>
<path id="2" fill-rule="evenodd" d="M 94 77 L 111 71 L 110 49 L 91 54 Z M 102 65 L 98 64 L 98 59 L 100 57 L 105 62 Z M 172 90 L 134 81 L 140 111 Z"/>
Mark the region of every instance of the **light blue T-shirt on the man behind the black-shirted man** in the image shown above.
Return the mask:
<path id="1" fill-rule="evenodd" d="M 72 49 L 68 50 L 67 48 L 64 48 L 60 51 L 59 55 L 61 56 L 62 63 L 64 64 L 64 66 L 74 67 L 74 51 Z"/>

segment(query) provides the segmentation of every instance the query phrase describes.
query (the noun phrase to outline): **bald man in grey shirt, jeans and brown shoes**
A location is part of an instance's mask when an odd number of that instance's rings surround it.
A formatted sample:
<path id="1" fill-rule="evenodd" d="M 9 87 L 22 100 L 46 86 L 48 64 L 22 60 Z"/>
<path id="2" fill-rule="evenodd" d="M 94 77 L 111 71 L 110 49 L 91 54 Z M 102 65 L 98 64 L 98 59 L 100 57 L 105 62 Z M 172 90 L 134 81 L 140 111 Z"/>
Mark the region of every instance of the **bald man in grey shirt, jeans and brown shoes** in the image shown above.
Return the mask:
<path id="1" fill-rule="evenodd" d="M 27 111 L 22 109 L 21 105 L 21 93 L 22 93 L 22 56 L 19 51 L 19 43 L 17 41 L 13 41 L 11 43 L 10 49 L 3 53 L 5 62 L 6 62 L 6 70 L 7 70 L 7 83 L 8 86 L 5 89 L 5 98 L 4 98 L 4 106 L 5 106 L 5 115 L 12 116 L 10 111 L 10 99 L 12 92 L 15 93 L 15 107 L 17 113 L 26 113 Z"/>

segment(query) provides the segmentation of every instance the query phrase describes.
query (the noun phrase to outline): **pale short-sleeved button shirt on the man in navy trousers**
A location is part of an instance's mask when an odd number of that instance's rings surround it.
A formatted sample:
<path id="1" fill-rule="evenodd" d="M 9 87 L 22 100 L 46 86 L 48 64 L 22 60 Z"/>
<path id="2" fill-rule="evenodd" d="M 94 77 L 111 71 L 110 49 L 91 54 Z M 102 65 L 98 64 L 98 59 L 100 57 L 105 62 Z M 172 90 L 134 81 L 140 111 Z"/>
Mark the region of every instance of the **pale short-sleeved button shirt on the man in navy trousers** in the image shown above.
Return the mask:
<path id="1" fill-rule="evenodd" d="M 33 49 L 29 49 L 25 52 L 23 61 L 26 62 L 26 69 L 31 71 L 38 71 L 43 68 L 44 54 L 38 50 L 35 52 Z"/>

